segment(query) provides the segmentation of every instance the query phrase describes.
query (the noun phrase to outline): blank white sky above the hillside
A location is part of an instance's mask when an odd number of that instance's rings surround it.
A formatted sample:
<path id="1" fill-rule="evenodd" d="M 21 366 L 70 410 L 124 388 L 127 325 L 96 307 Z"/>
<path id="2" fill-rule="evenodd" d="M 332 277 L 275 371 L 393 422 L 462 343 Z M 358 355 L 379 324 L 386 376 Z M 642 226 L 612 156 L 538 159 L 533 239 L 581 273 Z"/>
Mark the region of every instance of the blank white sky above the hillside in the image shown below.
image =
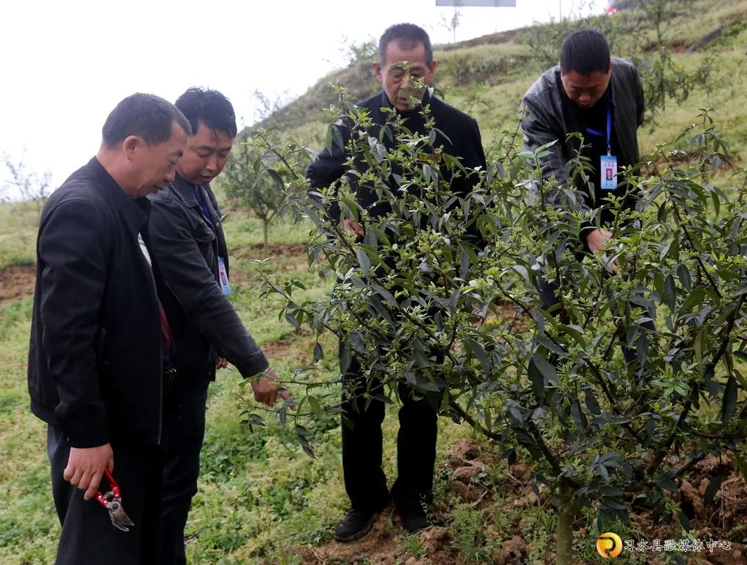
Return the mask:
<path id="1" fill-rule="evenodd" d="M 377 5 L 375 12 L 371 6 Z M 462 7 L 456 40 L 601 12 L 607 0 L 517 0 Z M 413 22 L 450 43 L 454 10 L 435 0 L 1 0 L 0 151 L 59 185 L 96 153 L 101 126 L 139 91 L 172 102 L 190 86 L 222 91 L 239 126 L 253 93 L 300 96 L 344 67 L 347 43 Z M 0 167 L 0 186 L 7 180 Z"/>

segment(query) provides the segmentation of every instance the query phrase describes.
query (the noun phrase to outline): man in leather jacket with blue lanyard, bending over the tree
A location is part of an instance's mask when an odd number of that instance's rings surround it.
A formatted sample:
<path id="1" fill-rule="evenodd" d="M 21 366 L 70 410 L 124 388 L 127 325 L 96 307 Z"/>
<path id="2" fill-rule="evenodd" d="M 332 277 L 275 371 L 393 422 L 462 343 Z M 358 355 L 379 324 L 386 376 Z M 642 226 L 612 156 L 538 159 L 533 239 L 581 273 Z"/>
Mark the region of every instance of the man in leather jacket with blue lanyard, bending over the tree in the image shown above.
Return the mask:
<path id="1" fill-rule="evenodd" d="M 542 176 L 554 177 L 557 189 L 545 192 L 545 200 L 557 209 L 565 207 L 562 188 L 572 183 L 583 194 L 578 203 L 580 212 L 588 214 L 599 209 L 599 227 L 587 223 L 581 238 L 584 247 L 595 253 L 612 237 L 607 226 L 613 222 L 613 212 L 604 198 L 625 197 L 627 183 L 618 182 L 622 167 L 632 167 L 639 161 L 638 127 L 643 123 L 643 89 L 636 67 L 630 61 L 610 58 L 610 46 L 604 35 L 592 29 L 582 29 L 569 35 L 562 45 L 560 64 L 546 71 L 527 90 L 522 107 L 528 111 L 521 128 L 524 146 L 532 151 L 556 141 L 542 158 Z M 580 132 L 584 146 L 568 134 Z M 568 162 L 580 151 L 589 158 L 591 171 L 588 182 L 576 174 L 568 178 Z M 627 197 L 624 206 L 633 208 L 635 199 Z M 542 307 L 551 309 L 559 303 L 557 285 L 542 282 Z M 653 324 L 646 325 L 653 329 Z M 635 353 L 623 350 L 627 362 Z"/>

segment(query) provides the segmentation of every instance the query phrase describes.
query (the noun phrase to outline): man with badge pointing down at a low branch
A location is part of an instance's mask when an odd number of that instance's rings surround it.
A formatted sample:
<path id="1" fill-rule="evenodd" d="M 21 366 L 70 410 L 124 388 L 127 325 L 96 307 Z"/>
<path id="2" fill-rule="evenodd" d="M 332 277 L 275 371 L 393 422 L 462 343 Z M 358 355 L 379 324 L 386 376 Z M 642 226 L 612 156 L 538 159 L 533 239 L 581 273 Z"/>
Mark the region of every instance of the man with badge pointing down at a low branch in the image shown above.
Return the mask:
<path id="1" fill-rule="evenodd" d="M 161 565 L 185 564 L 184 530 L 197 492 L 205 401 L 216 365 L 232 362 L 269 406 L 290 396 L 270 379 L 267 359 L 228 299 L 229 257 L 220 208 L 210 182 L 229 159 L 236 137 L 231 102 L 217 90 L 190 88 L 176 101 L 190 123 L 185 155 L 167 190 L 153 195 L 150 237 L 163 282 L 176 348 L 164 388 L 164 476 L 161 487 Z"/>

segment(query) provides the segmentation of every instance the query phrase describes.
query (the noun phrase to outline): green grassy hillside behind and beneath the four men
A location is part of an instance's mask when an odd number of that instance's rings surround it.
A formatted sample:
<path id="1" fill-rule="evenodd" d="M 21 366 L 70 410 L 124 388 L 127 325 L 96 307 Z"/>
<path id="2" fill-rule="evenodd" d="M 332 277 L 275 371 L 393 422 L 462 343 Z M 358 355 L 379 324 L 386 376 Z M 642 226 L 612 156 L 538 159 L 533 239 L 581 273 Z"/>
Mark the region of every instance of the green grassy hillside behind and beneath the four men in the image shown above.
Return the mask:
<path id="1" fill-rule="evenodd" d="M 684 70 L 695 70 L 710 60 L 707 84 L 697 87 L 682 102 L 669 100 L 639 132 L 642 152 L 656 143 L 672 141 L 694 122 L 699 108 L 715 108 L 719 129 L 732 144 L 734 164 L 747 159 L 747 80 L 744 76 L 747 46 L 747 0 L 698 0 L 686 13 L 666 22 L 666 45 L 656 43 L 653 30 L 643 36 L 616 31 L 623 16 L 596 19 L 610 32 L 613 52 L 645 66 L 659 49 L 671 49 Z M 436 48 L 438 87 L 447 101 L 470 112 L 480 123 L 490 155 L 503 129 L 515 127 L 518 105 L 539 72 L 551 64 L 557 41 L 578 25 L 526 28 L 495 34 L 453 46 Z M 701 37 L 717 28 L 722 37 L 704 49 L 688 53 Z M 359 61 L 332 73 L 262 126 L 279 129 L 282 138 L 294 138 L 320 148 L 326 132 L 323 108 L 335 102 L 327 85 L 340 81 L 350 98 L 363 99 L 376 91 L 370 63 Z M 231 208 L 231 205 L 228 206 Z M 28 410 L 25 363 L 33 292 L 35 218 L 29 203 L 0 204 L 0 565 L 49 565 L 54 562 L 59 525 L 51 511 L 46 432 Z M 241 318 L 263 345 L 280 373 L 311 361 L 313 343 L 305 333 L 294 333 L 278 320 L 278 303 L 259 299 L 259 280 L 250 259 L 264 257 L 261 223 L 234 206 L 225 223 L 232 253 L 232 300 Z M 309 271 L 303 255 L 308 228 L 278 220 L 270 231 L 270 270 L 279 277 L 306 283 L 306 296 L 319 296 L 326 288 Z M 323 343 L 327 352 L 320 373 L 332 378 L 337 371 L 335 343 Z M 331 543 L 331 528 L 347 509 L 341 477 L 338 422 L 321 419 L 311 429 L 316 460 L 303 454 L 291 430 L 277 424 L 249 433 L 240 424 L 237 371 L 221 371 L 211 385 L 208 426 L 202 451 L 202 478 L 187 524 L 188 559 L 192 564 L 550 564 L 551 532 L 555 515 L 548 497 L 535 493 L 528 482 L 527 466 L 509 468 L 490 445 L 474 441 L 471 430 L 440 419 L 436 472 L 436 528 L 405 536 L 391 510 L 376 522 L 374 533 L 361 543 Z M 326 393 L 338 395 L 329 387 Z M 385 419 L 385 471 L 396 474 L 394 455 L 396 407 Z M 693 471 L 685 497 L 698 498 L 707 460 Z M 456 478 L 455 478 L 456 477 Z M 707 483 L 706 483 L 707 484 Z M 734 551 L 721 552 L 713 565 L 739 561 L 747 542 L 747 490 L 738 475 L 729 475 L 716 518 L 701 508 L 704 526 L 718 522 L 716 531 L 731 540 Z M 694 494 L 693 494 L 694 493 Z M 126 493 L 125 493 L 126 496 Z M 695 500 L 696 501 L 696 500 Z M 695 502 L 693 502 L 695 504 Z M 697 509 L 696 509 L 697 510 Z M 710 517 L 709 517 L 710 516 Z M 595 516 L 585 516 L 574 548 L 579 563 L 598 562 L 594 541 Z M 693 521 L 693 523 L 696 523 Z M 657 529 L 658 528 L 658 529 Z M 675 537 L 678 531 L 662 529 L 648 516 L 619 529 L 625 539 Z M 705 530 L 703 530 L 705 531 Z M 654 536 L 654 533 L 656 534 Z M 741 549 L 740 549 L 741 548 Z M 718 553 L 718 552 L 716 552 Z M 651 555 L 648 557 L 653 558 Z M 732 561 L 727 561 L 731 559 Z M 642 554 L 622 555 L 619 564 L 643 564 Z M 695 563 L 696 561 L 690 560 Z M 706 563 L 705 561 L 700 561 Z"/>

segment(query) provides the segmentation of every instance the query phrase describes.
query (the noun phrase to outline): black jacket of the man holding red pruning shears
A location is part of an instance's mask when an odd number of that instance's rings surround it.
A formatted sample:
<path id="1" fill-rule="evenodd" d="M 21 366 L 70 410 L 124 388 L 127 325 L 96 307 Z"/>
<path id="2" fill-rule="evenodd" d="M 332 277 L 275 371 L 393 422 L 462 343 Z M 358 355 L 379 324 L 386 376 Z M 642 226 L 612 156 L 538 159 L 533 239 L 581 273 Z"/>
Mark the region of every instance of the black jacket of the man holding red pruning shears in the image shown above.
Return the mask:
<path id="1" fill-rule="evenodd" d="M 160 441 L 161 324 L 137 241 L 148 211 L 93 158 L 42 212 L 28 391 L 72 447 Z"/>

